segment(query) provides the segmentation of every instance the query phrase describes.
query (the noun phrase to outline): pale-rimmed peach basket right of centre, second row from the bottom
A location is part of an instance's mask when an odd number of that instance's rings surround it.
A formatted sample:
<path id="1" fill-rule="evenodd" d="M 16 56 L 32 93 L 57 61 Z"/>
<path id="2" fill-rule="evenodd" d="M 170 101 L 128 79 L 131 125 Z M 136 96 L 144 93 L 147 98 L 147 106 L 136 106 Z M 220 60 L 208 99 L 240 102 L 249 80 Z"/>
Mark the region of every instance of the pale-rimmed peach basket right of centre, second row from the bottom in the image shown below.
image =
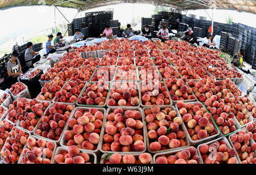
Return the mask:
<path id="1" fill-rule="evenodd" d="M 184 114 L 185 110 L 187 110 L 184 108 L 185 105 L 189 105 L 189 109 L 193 114 Z M 207 142 L 220 135 L 220 131 L 217 129 L 217 125 L 212 119 L 212 114 L 207 112 L 207 109 L 204 108 L 202 103 L 177 103 L 175 107 L 178 116 L 183 118 L 182 126 L 192 146 Z"/>

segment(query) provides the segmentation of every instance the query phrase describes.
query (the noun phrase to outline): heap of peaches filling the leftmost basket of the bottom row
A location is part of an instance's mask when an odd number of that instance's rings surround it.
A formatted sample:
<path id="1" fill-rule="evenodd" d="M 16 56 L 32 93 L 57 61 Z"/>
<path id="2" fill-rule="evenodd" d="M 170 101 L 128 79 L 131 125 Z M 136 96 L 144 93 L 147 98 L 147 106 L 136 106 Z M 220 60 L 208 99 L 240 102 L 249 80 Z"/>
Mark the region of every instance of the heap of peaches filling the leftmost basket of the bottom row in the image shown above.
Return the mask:
<path id="1" fill-rule="evenodd" d="M 28 134 L 25 131 L 13 127 L 6 139 L 5 146 L 1 151 L 1 156 L 7 164 L 18 163 L 19 156 L 22 153 L 24 145 L 27 143 Z"/>

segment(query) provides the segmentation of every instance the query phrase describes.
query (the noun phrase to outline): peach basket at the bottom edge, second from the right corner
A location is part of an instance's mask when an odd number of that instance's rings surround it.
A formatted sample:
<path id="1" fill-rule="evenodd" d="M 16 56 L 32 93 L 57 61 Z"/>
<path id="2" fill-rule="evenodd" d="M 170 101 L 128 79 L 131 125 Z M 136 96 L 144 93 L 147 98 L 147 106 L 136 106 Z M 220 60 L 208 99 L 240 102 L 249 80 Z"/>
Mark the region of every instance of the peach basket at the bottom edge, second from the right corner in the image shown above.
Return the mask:
<path id="1" fill-rule="evenodd" d="M 222 164 L 240 163 L 236 150 L 230 146 L 230 143 L 225 136 L 200 144 L 197 146 L 197 151 L 202 164 L 214 164 L 215 161 Z"/>

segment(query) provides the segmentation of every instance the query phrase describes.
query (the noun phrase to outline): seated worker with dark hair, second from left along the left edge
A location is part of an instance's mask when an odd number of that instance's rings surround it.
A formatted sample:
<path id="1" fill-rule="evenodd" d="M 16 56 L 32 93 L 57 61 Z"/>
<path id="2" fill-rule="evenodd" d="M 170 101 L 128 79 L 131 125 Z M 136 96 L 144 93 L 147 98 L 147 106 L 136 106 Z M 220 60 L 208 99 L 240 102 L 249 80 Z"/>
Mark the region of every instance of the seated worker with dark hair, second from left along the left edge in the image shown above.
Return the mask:
<path id="1" fill-rule="evenodd" d="M 27 43 L 27 49 L 25 51 L 25 63 L 28 66 L 28 68 L 32 67 L 34 68 L 33 64 L 38 62 L 40 60 L 40 54 L 38 52 L 34 52 L 32 50 L 33 43 L 28 42 Z"/>

